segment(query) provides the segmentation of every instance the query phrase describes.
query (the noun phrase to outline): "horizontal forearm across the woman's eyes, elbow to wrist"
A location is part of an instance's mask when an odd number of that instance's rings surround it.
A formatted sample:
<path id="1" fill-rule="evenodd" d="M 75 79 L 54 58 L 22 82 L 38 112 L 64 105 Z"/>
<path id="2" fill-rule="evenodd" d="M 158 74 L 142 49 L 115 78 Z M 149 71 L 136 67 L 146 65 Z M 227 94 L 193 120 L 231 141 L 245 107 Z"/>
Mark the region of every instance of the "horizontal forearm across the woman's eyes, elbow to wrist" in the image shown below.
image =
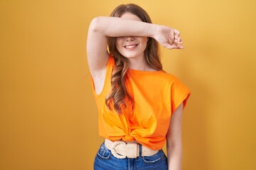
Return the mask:
<path id="1" fill-rule="evenodd" d="M 157 25 L 118 17 L 99 16 L 90 23 L 90 30 L 109 37 L 146 36 L 156 34 Z"/>

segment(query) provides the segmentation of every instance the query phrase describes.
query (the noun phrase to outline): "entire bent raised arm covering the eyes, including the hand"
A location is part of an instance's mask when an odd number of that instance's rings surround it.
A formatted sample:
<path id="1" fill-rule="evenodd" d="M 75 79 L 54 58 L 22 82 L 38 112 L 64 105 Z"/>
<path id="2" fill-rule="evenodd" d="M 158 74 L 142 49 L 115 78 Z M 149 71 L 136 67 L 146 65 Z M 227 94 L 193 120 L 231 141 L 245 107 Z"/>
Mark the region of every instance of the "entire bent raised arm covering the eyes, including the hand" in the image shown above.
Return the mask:
<path id="1" fill-rule="evenodd" d="M 100 16 L 92 20 L 87 35 L 87 60 L 92 77 L 106 67 L 107 37 L 129 35 L 155 38 L 169 49 L 183 48 L 178 30 L 126 18 Z"/>

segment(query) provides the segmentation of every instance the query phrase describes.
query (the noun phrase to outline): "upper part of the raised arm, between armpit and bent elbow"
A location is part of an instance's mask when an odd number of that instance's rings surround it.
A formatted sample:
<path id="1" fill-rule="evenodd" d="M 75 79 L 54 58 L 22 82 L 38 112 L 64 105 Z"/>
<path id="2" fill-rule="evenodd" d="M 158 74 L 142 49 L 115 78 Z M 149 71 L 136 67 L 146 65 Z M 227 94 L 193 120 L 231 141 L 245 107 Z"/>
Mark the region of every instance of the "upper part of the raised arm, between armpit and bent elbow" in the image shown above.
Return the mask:
<path id="1" fill-rule="evenodd" d="M 87 60 L 92 77 L 104 74 L 108 60 L 107 35 L 102 31 L 99 18 L 92 19 L 87 34 Z"/>

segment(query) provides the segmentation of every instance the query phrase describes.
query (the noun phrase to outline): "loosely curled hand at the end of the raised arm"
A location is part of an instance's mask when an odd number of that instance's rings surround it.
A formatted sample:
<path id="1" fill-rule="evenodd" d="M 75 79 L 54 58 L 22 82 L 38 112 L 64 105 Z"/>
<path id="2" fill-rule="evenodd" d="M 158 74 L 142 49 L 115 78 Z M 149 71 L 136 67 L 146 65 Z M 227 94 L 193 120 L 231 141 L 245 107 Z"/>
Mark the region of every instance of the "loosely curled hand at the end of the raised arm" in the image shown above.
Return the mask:
<path id="1" fill-rule="evenodd" d="M 167 26 L 157 26 L 156 34 L 153 37 L 163 47 L 168 49 L 183 49 L 183 41 L 180 32 Z"/>

